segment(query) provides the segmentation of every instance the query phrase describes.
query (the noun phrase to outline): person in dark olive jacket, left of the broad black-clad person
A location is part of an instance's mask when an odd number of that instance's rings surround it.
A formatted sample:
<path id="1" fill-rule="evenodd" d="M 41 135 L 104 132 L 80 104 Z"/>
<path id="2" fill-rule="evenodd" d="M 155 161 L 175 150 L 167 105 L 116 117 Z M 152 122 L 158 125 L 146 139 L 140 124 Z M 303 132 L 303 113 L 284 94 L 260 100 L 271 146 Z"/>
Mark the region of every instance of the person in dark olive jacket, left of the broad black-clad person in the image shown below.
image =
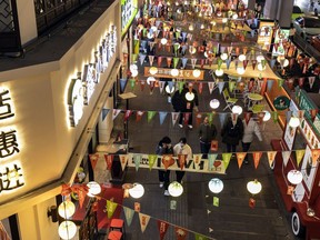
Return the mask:
<path id="1" fill-rule="evenodd" d="M 206 117 L 203 122 L 200 124 L 199 130 L 199 141 L 200 141 L 200 151 L 203 159 L 208 158 L 210 151 L 211 141 L 216 139 L 217 128 L 213 123 L 209 123 L 209 118 Z"/>

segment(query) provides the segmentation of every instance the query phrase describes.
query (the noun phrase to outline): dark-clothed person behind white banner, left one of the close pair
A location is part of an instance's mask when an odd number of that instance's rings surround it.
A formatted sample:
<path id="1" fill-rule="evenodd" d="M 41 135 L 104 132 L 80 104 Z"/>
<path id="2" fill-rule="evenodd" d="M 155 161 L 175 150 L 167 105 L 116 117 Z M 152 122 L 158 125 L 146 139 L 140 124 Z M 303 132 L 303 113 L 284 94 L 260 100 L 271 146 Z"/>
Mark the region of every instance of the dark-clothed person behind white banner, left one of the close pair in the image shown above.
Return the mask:
<path id="1" fill-rule="evenodd" d="M 162 154 L 172 154 L 173 156 L 173 148 L 171 144 L 171 139 L 169 137 L 163 137 L 156 150 L 156 153 L 158 156 Z M 170 170 L 159 170 L 158 171 L 159 176 L 159 182 L 160 182 L 160 188 L 164 188 L 164 196 L 170 196 L 168 191 L 168 187 L 170 183 Z"/>

